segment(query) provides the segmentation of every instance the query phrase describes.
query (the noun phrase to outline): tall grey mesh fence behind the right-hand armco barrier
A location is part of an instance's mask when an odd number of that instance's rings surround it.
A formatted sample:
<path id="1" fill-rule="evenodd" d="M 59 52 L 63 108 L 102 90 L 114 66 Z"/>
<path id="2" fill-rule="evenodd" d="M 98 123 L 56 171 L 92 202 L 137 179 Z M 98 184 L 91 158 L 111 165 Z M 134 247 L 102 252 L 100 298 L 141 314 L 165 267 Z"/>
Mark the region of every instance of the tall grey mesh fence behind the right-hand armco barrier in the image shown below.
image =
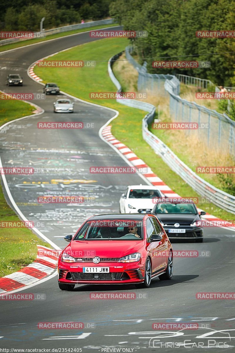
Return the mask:
<path id="1" fill-rule="evenodd" d="M 130 47 L 126 47 L 129 62 L 133 63 Z M 187 101 L 179 96 L 180 81 L 174 75 L 157 75 L 147 73 L 146 63 L 137 67 L 138 91 L 151 92 L 153 95 L 169 97 L 170 114 L 175 121 L 196 122 L 197 130 L 187 130 L 188 136 L 206 143 L 209 148 L 222 148 L 235 156 L 235 122 L 227 114 L 219 114 L 193 101 Z M 136 64 L 135 64 L 136 67 Z"/>

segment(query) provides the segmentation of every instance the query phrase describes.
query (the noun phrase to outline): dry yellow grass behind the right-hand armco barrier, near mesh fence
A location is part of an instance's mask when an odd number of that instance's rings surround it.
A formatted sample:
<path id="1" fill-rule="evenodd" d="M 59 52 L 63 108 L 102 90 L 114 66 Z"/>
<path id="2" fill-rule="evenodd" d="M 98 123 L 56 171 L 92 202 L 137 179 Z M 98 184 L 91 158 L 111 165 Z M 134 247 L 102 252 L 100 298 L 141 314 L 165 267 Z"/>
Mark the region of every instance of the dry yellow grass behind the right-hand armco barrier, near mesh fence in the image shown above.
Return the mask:
<path id="1" fill-rule="evenodd" d="M 125 54 L 120 56 L 119 60 L 115 63 L 113 71 L 115 76 L 122 85 L 123 91 L 137 92 L 138 72 L 129 64 L 128 61 L 120 61 L 126 59 Z M 195 93 L 196 87 L 185 86 L 181 84 L 180 95 L 188 101 L 194 101 L 197 104 L 204 105 L 210 109 L 216 109 L 216 100 L 196 100 Z M 154 95 L 151 91 L 146 91 L 147 97 L 139 99 L 147 103 L 151 103 L 156 107 L 160 106 L 160 120 L 164 122 L 171 122 L 172 119 L 169 114 L 169 97 L 165 96 L 162 92 L 156 92 Z M 198 137 L 198 130 L 152 130 L 169 148 L 171 148 L 178 157 L 183 160 L 193 170 L 197 166 L 233 166 L 233 158 L 223 149 L 216 149 L 215 145 L 208 147 L 205 143 L 205 138 Z M 213 143 L 213 142 L 212 142 Z M 221 187 L 221 181 L 216 174 L 200 174 L 209 183 L 217 187 Z M 235 183 L 235 175 L 231 174 L 233 183 Z"/>

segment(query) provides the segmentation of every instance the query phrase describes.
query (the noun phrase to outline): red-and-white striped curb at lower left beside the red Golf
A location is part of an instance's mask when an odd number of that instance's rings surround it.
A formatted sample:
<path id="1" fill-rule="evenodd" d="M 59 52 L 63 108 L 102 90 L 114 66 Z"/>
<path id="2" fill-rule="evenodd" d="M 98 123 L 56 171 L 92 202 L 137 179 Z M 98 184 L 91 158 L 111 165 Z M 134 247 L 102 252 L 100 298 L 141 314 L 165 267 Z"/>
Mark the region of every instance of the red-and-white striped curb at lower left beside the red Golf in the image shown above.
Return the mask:
<path id="1" fill-rule="evenodd" d="M 37 248 L 37 258 L 34 262 L 0 278 L 0 295 L 31 285 L 55 271 L 60 251 L 43 245 L 37 245 Z"/>

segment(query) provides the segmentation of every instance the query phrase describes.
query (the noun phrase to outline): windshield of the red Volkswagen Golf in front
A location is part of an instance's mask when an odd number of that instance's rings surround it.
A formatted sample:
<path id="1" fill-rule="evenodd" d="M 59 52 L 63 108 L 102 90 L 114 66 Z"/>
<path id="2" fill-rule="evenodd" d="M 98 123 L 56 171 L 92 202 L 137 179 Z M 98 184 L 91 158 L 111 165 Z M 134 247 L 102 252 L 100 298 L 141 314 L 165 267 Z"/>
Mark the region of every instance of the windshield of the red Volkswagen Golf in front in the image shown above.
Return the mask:
<path id="1" fill-rule="evenodd" d="M 138 237 L 136 237 L 138 235 Z M 93 220 L 88 221 L 74 240 L 142 240 L 142 221 Z"/>

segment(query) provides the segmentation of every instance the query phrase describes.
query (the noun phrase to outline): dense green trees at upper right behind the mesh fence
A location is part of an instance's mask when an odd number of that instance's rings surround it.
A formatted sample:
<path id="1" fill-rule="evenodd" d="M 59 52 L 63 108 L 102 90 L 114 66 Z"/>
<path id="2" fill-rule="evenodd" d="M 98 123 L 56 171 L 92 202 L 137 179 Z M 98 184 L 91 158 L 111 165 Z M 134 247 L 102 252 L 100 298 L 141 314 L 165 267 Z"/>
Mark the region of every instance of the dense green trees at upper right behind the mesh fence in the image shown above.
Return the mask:
<path id="1" fill-rule="evenodd" d="M 126 30 L 147 30 L 147 38 L 135 38 L 136 54 L 156 60 L 205 60 L 210 68 L 155 69 L 151 73 L 182 73 L 210 79 L 218 85 L 235 85 L 235 38 L 197 38 L 198 30 L 235 30 L 235 0 L 115 0 L 114 16 Z M 206 54 L 206 55 L 198 55 Z M 195 56 L 187 56 L 195 55 Z M 179 57 L 180 56 L 180 57 Z"/>

